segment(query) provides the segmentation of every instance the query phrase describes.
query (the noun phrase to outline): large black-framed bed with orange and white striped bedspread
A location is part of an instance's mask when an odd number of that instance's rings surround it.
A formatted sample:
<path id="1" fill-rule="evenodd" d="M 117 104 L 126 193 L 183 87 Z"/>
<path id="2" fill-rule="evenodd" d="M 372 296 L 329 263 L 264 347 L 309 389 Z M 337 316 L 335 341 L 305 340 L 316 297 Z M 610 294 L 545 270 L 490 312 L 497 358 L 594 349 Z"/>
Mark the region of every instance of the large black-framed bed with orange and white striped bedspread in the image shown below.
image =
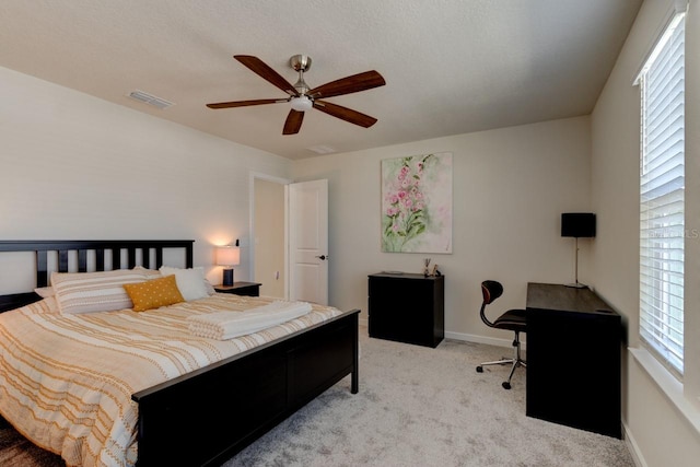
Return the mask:
<path id="1" fill-rule="evenodd" d="M 96 275 L 93 271 L 121 270 L 154 275 L 163 266 L 164 255 L 176 252 L 184 256 L 183 269 L 190 270 L 192 244 L 194 241 L 4 241 L 0 242 L 0 255 L 31 252 L 35 290 L 42 292 L 48 289 L 51 268 L 57 272 L 71 269 L 88 277 Z M 69 465 L 84 458 L 88 460 L 81 462 L 91 465 L 220 465 L 346 376 L 350 376 L 350 392 L 355 394 L 359 389 L 358 310 L 341 312 L 313 305 L 307 315 L 225 341 L 183 330 L 191 314 L 217 312 L 220 307 L 245 311 L 264 307 L 268 302 L 265 297 L 212 294 L 143 312 L 65 314 L 56 312 L 51 296 L 43 299 L 35 291 L 0 295 L 0 343 L 5 349 L 0 358 L 0 376 L 3 386 L 8 386 L 0 388 L 0 415 L 40 447 L 72 459 Z M 129 326 L 137 320 L 135 331 Z M 49 354 L 35 354 L 45 347 L 38 328 L 19 337 L 8 336 L 8 329 L 19 326 L 14 323 L 24 326 L 25 322 L 39 324 L 42 332 L 49 329 L 62 340 L 54 345 Z M 78 338 L 83 328 L 89 329 L 88 337 Z M 119 340 L 121 328 L 130 332 L 129 342 Z M 179 338 L 166 336 L 165 331 L 159 334 L 161 328 L 179 332 Z M 95 345 L 103 334 L 110 343 Z M 72 348 L 68 343 L 71 340 L 82 343 Z M 113 359 L 103 357 L 102 350 L 86 350 L 102 347 L 117 347 L 121 354 L 135 353 L 126 364 L 128 377 L 110 370 L 125 366 L 124 363 L 112 365 Z M 141 349 L 145 349 L 145 357 L 136 354 Z M 104 374 L 84 374 L 82 360 L 75 363 L 59 358 L 71 352 L 105 362 L 96 371 Z M 166 352 L 171 355 L 168 364 L 152 361 L 154 355 Z M 22 365 L 34 367 L 37 360 L 55 361 L 54 367 L 65 373 L 55 370 L 52 380 L 47 378 L 42 385 L 35 381 L 39 376 L 18 372 Z M 70 384 L 77 380 L 78 386 L 66 386 L 69 378 Z M 77 425 L 94 433 L 85 436 L 75 427 L 60 431 L 56 420 L 65 416 L 61 411 L 72 417 L 83 413 L 72 406 L 78 404 L 73 399 L 80 399 L 74 396 L 84 386 L 95 385 L 94 378 L 108 382 L 107 396 L 100 397 L 120 408 L 116 420 L 105 416 L 105 410 L 86 408 L 85 413 L 97 415 L 85 416 Z M 15 380 L 19 383 L 11 383 Z M 60 389 L 56 389 L 57 384 Z M 49 407 L 51 404 L 46 400 L 54 400 L 55 393 L 72 398 Z M 125 397 L 130 400 L 121 400 Z M 103 400 L 86 399 L 93 405 Z M 44 420 L 48 433 L 33 433 L 32 424 L 24 421 L 28 418 Z M 103 446 L 105 442 L 109 446 Z"/>

